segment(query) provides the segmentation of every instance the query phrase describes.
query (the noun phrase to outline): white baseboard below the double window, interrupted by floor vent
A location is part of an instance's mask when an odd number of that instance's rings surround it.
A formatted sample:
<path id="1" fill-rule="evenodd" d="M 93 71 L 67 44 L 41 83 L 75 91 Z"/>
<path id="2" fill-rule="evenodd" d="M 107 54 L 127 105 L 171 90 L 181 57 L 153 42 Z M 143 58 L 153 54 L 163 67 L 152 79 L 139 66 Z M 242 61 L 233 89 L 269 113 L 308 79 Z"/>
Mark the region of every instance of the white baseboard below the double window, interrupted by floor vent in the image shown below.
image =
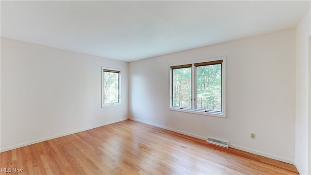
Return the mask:
<path id="1" fill-rule="evenodd" d="M 194 138 L 197 138 L 197 139 L 206 140 L 206 137 L 203 137 L 203 136 L 198 136 L 198 135 L 195 135 L 195 134 L 183 132 L 183 131 L 180 131 L 180 130 L 177 130 L 177 129 L 173 129 L 173 128 L 170 128 L 170 127 L 166 127 L 166 126 L 162 126 L 162 125 L 158 125 L 158 124 L 154 124 L 154 123 L 150 123 L 150 122 L 141 121 L 141 120 L 134 119 L 134 118 L 129 118 L 129 119 L 133 120 L 133 121 L 140 122 L 140 123 L 146 123 L 146 124 L 153 125 L 153 126 L 156 126 L 156 127 L 159 127 L 159 128 L 163 128 L 163 129 L 167 129 L 167 130 L 170 130 L 170 131 L 174 131 L 176 133 L 184 134 L 184 135 L 187 135 L 187 136 L 190 136 L 190 137 L 194 137 Z M 241 150 L 241 151 L 245 151 L 245 152 L 248 152 L 248 153 L 256 154 L 256 155 L 259 155 L 259 156 L 272 158 L 272 159 L 275 159 L 275 160 L 279 160 L 279 161 L 290 163 L 290 164 L 294 165 L 294 160 L 291 160 L 291 159 L 288 159 L 288 158 L 275 156 L 275 155 L 272 155 L 272 154 L 268 154 L 268 153 L 264 153 L 264 152 L 256 151 L 256 150 L 252 150 L 252 149 L 249 149 L 249 148 L 245 148 L 245 147 L 242 147 L 242 146 L 239 146 L 239 145 L 235 145 L 235 144 L 230 144 L 230 143 L 229 143 L 229 147 L 230 148 L 234 148 L 234 149 L 238 149 L 238 150 Z"/>

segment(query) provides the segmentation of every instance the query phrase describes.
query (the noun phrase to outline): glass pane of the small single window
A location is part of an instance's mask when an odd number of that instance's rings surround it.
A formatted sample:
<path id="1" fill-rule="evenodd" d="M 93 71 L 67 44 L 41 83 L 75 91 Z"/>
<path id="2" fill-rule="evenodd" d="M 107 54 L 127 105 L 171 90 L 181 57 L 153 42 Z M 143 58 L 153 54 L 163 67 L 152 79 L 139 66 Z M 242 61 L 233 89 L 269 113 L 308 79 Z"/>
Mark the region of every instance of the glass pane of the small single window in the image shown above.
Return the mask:
<path id="1" fill-rule="evenodd" d="M 104 104 L 119 103 L 119 73 L 104 71 Z"/>

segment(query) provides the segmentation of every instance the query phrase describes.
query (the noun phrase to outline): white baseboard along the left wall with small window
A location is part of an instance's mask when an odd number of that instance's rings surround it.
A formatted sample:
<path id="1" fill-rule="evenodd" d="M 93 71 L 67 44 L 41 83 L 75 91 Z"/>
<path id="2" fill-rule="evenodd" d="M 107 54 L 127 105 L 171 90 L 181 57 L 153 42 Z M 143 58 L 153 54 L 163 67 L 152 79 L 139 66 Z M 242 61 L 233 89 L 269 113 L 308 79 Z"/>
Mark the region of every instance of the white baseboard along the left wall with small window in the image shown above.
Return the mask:
<path id="1" fill-rule="evenodd" d="M 67 132 L 67 133 L 58 134 L 58 135 L 55 135 L 55 136 L 52 136 L 52 137 L 48 137 L 48 138 L 44 138 L 44 139 L 29 141 L 29 142 L 21 143 L 21 144 L 18 144 L 18 145 L 9 146 L 9 147 L 6 147 L 6 148 L 1 148 L 0 149 L 0 153 L 4 152 L 4 151 L 9 151 L 9 150 L 12 150 L 12 149 L 20 148 L 20 147 L 23 147 L 23 146 L 32 145 L 32 144 L 39 143 L 39 142 L 42 142 L 42 141 L 51 140 L 51 139 L 55 139 L 55 138 L 59 138 L 59 137 L 63 137 L 63 136 L 68 136 L 70 134 L 86 131 L 86 130 L 89 130 L 89 129 L 94 129 L 94 128 L 101 127 L 101 126 L 104 126 L 104 125 L 125 121 L 125 120 L 128 120 L 128 119 L 125 118 L 125 119 L 115 120 L 115 121 L 108 122 L 108 123 L 102 123 L 102 124 L 98 124 L 98 125 L 95 125 L 95 126 L 91 126 L 91 127 L 87 127 L 87 128 L 83 128 L 83 129 L 78 129 L 78 130 L 75 130 L 75 131 L 70 131 L 70 132 Z"/>

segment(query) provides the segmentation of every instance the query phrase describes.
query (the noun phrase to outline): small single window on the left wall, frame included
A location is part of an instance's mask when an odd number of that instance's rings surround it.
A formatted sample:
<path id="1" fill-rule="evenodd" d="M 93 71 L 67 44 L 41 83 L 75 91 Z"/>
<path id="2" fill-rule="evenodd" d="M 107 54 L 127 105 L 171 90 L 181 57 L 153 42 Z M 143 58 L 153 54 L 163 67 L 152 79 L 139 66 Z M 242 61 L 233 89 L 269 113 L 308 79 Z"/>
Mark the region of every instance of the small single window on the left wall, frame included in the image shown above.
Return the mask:
<path id="1" fill-rule="evenodd" d="M 121 70 L 102 67 L 102 107 L 120 105 Z"/>

